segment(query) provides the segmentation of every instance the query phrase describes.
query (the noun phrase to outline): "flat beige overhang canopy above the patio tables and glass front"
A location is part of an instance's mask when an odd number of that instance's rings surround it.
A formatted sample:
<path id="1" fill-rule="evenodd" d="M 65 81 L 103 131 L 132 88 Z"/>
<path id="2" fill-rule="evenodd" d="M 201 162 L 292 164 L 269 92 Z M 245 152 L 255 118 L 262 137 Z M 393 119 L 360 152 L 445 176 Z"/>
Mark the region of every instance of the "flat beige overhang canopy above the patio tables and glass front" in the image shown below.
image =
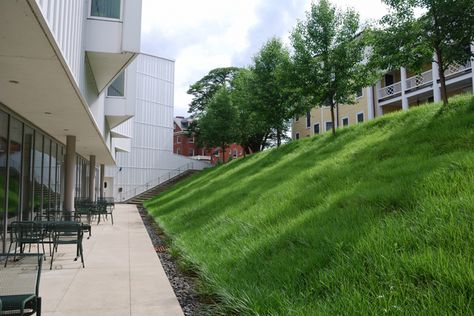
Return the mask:
<path id="1" fill-rule="evenodd" d="M 115 164 L 34 0 L 0 1 L 0 102 L 77 153 Z"/>

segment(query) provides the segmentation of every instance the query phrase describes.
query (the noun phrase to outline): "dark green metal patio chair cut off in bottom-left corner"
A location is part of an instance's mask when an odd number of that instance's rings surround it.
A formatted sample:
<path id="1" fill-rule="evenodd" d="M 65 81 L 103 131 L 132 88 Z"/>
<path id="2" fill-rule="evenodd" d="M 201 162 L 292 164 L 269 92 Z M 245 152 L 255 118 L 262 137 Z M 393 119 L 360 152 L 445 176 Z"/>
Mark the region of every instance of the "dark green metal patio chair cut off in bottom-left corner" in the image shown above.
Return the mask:
<path id="1" fill-rule="evenodd" d="M 0 315 L 41 315 L 38 291 L 43 255 L 10 256 L 4 267 L 6 258 L 0 254 Z"/>

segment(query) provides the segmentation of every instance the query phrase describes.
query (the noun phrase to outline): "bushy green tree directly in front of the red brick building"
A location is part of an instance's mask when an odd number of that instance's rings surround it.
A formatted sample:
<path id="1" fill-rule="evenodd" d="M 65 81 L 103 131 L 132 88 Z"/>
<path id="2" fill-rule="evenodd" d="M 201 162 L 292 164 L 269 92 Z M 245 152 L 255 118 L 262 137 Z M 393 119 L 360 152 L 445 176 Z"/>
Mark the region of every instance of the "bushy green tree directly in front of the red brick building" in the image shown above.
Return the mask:
<path id="1" fill-rule="evenodd" d="M 221 147 L 222 162 L 228 144 L 237 139 L 237 112 L 232 105 L 230 92 L 221 87 L 208 102 L 205 112 L 197 121 L 199 129 L 198 144 L 208 148 Z"/>

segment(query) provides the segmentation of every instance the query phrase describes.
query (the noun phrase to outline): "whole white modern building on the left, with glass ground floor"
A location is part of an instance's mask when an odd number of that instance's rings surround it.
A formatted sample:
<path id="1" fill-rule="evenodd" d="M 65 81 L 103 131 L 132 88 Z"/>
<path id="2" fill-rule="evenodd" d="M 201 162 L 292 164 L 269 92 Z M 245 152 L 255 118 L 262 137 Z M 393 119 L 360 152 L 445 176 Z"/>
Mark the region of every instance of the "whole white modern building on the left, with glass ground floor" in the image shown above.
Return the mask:
<path id="1" fill-rule="evenodd" d="M 141 11 L 141 0 L 0 1 L 0 252 L 12 221 L 104 196 L 105 166 L 120 161 L 128 190 L 158 176 L 160 159 L 181 164 L 159 154 L 172 141 L 173 65 L 137 58 Z"/>

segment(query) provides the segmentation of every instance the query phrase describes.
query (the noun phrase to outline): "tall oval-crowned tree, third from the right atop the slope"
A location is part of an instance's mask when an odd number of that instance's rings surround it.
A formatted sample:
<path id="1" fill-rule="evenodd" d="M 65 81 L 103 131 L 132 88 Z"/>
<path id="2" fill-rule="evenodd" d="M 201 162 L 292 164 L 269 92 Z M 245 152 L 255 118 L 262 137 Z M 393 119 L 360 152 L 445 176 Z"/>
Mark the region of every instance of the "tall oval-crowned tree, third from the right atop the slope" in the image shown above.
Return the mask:
<path id="1" fill-rule="evenodd" d="M 254 105 L 266 124 L 275 131 L 277 146 L 287 130 L 286 122 L 301 110 L 290 84 L 291 59 L 277 38 L 269 40 L 254 58 L 251 87 Z"/>

